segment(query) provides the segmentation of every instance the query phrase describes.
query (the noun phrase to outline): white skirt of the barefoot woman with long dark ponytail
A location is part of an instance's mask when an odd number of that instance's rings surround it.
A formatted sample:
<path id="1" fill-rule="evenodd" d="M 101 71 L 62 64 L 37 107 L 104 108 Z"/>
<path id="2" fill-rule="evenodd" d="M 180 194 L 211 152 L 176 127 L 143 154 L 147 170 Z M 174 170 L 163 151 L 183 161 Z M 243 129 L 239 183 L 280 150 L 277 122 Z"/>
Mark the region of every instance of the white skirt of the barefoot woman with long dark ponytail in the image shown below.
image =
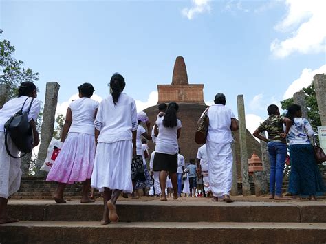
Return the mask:
<path id="1" fill-rule="evenodd" d="M 132 154 L 131 140 L 113 143 L 98 142 L 91 175 L 91 187 L 100 191 L 106 187 L 111 190 L 133 192 L 131 181 Z"/>

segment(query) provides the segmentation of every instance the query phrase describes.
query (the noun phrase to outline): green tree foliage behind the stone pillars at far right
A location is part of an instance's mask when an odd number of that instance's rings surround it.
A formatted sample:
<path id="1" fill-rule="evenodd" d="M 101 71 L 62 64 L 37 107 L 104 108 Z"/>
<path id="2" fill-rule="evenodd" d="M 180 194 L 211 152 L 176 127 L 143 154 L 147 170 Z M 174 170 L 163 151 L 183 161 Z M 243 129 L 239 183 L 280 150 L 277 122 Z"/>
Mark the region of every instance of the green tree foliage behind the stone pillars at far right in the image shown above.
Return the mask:
<path id="1" fill-rule="evenodd" d="M 308 118 L 311 121 L 312 127 L 316 129 L 317 126 L 321 126 L 321 121 L 320 121 L 314 82 L 312 82 L 312 84 L 309 85 L 309 87 L 303 88 L 302 91 L 305 92 L 305 101 L 307 102 L 307 108 L 308 108 Z M 293 103 L 294 103 L 293 98 L 288 98 L 281 101 L 282 109 L 287 109 L 287 107 L 289 107 Z"/>

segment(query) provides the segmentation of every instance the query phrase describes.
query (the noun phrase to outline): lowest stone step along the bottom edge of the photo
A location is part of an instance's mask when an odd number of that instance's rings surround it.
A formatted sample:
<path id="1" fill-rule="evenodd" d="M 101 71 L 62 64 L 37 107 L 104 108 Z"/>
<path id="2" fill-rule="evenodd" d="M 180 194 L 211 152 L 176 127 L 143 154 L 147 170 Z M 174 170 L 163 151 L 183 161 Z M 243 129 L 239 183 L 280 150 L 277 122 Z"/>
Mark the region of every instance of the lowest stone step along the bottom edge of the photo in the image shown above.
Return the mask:
<path id="1" fill-rule="evenodd" d="M 5 243 L 326 243 L 326 223 L 117 223 L 0 225 Z"/>

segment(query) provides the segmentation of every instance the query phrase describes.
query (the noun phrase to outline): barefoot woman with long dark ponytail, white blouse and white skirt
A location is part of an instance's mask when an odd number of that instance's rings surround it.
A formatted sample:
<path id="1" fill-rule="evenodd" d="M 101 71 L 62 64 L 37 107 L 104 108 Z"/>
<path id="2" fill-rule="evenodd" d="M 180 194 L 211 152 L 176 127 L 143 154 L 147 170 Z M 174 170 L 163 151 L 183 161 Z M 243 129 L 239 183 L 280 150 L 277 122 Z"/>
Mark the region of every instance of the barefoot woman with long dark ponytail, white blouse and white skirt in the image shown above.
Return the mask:
<path id="1" fill-rule="evenodd" d="M 102 100 L 95 120 L 97 142 L 91 186 L 104 191 L 102 224 L 118 222 L 116 201 L 122 191 L 133 192 L 131 160 L 136 153 L 138 129 L 135 100 L 122 93 L 124 78 L 113 74 L 112 93 Z"/>

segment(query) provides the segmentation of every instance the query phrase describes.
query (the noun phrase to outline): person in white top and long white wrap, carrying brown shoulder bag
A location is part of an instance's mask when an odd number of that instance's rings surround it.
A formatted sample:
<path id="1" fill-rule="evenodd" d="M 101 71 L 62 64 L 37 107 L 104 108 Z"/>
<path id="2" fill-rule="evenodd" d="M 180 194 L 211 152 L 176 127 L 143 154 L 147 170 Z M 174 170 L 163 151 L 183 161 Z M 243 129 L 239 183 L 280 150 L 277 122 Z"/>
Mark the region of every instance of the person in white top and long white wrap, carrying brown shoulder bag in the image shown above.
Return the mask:
<path id="1" fill-rule="evenodd" d="M 223 93 L 217 93 L 214 103 L 208 108 L 206 142 L 210 191 L 213 192 L 213 201 L 218 201 L 221 197 L 223 201 L 230 203 L 233 162 L 231 131 L 237 131 L 239 126 L 233 112 L 225 106 L 226 97 Z"/>

